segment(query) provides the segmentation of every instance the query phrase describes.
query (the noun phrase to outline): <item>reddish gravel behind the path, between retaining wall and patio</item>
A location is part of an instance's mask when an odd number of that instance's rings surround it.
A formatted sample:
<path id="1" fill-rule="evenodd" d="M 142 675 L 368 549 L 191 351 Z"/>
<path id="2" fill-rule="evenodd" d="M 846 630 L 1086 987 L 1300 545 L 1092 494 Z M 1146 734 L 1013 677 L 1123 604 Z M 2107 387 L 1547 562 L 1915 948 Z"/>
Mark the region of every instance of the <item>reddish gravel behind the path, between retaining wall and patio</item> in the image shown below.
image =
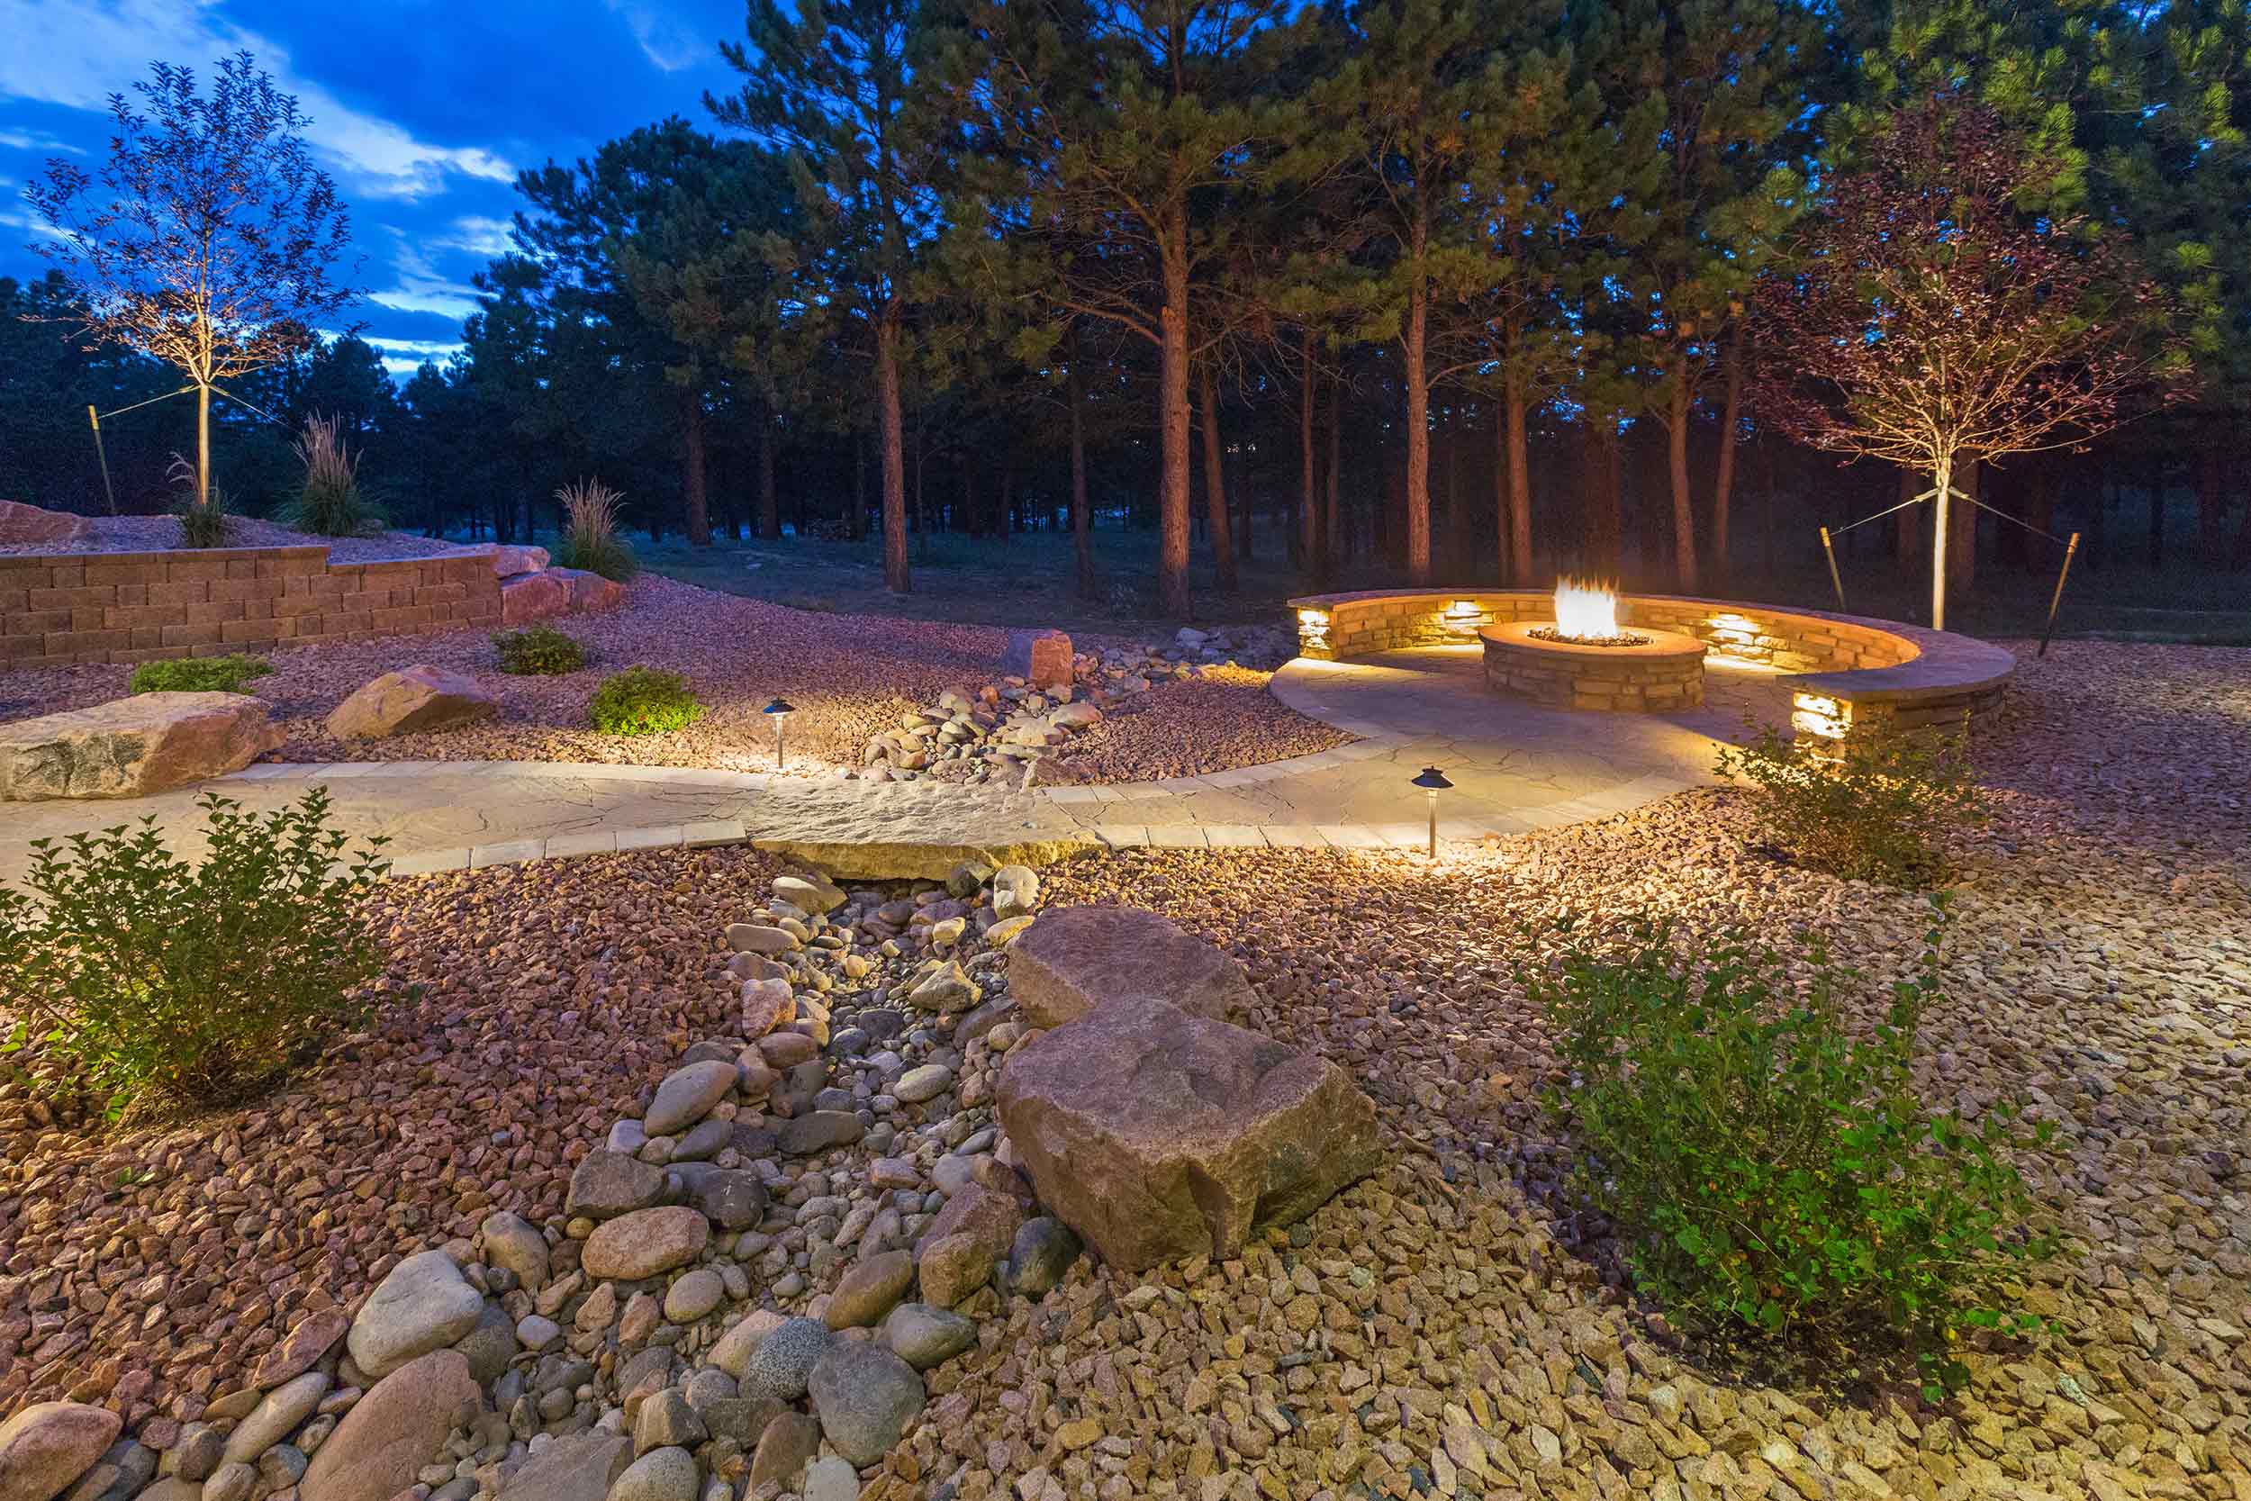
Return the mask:
<path id="1" fill-rule="evenodd" d="M 858 767 L 869 736 L 934 704 L 950 686 L 999 677 L 1008 632 L 871 614 L 819 614 L 644 576 L 624 608 L 558 621 L 585 641 L 592 662 L 560 677 L 511 677 L 495 668 L 484 632 L 385 637 L 270 655 L 275 673 L 250 689 L 272 704 L 288 734 L 279 761 L 576 761 L 763 772 L 774 765 L 774 727 L 761 713 L 786 698 L 788 770 Z M 1078 641 L 1098 650 L 1116 641 Z M 500 713 L 443 734 L 338 740 L 322 720 L 371 677 L 432 662 L 475 677 Z M 603 673 L 651 664 L 680 671 L 709 713 L 660 736 L 588 729 L 585 704 Z M 81 709 L 124 693 L 128 668 L 72 666 L 0 673 L 0 720 Z M 1135 695 L 1116 725 L 1076 743 L 1078 781 L 1139 781 L 1299 756 L 1351 740 L 1263 691 L 1265 673 L 1220 671 Z"/>

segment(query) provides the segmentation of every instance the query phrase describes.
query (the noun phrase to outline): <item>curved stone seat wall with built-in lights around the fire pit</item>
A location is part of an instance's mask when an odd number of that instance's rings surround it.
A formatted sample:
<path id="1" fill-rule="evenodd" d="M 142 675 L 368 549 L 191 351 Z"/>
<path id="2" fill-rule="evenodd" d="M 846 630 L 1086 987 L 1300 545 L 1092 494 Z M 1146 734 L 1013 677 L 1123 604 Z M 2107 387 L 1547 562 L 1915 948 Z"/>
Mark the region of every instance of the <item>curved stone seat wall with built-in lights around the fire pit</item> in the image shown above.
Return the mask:
<path id="1" fill-rule="evenodd" d="M 1308 594 L 1292 599 L 1299 655 L 1351 662 L 1405 646 L 1477 646 L 1501 621 L 1549 621 L 1549 590 L 1427 590 Z M 1841 736 L 1855 720 L 1904 729 L 1961 725 L 1999 707 L 2017 659 L 1999 646 L 1828 610 L 1781 610 L 1733 599 L 1621 594 L 1625 626 L 1702 639 L 1711 662 L 1790 673 L 1792 720 L 1805 734 Z"/>

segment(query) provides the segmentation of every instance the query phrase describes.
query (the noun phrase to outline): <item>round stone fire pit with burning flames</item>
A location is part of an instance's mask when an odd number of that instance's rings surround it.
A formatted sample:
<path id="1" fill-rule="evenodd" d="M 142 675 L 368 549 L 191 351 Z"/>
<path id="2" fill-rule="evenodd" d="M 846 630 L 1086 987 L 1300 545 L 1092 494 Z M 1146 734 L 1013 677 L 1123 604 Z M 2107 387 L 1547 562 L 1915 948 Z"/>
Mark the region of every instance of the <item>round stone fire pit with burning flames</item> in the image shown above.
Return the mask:
<path id="1" fill-rule="evenodd" d="M 1564 578 L 1555 619 L 1477 632 L 1486 684 L 1551 709 L 1695 709 L 1704 702 L 1704 641 L 1677 630 L 1618 626 L 1618 594 Z"/>

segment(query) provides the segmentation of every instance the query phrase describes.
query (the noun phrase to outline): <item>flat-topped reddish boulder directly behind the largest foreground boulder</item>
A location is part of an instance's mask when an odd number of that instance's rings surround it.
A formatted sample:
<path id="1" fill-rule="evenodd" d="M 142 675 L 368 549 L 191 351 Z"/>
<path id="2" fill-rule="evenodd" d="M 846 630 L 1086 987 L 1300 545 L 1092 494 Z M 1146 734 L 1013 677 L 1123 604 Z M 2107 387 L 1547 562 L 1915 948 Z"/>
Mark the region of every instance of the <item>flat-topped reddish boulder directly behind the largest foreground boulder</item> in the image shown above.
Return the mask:
<path id="1" fill-rule="evenodd" d="M 1008 945 L 1008 995 L 1033 1026 L 1062 1026 L 1135 999 L 1236 1022 L 1258 999 L 1231 954 L 1141 907 L 1042 911 Z"/>

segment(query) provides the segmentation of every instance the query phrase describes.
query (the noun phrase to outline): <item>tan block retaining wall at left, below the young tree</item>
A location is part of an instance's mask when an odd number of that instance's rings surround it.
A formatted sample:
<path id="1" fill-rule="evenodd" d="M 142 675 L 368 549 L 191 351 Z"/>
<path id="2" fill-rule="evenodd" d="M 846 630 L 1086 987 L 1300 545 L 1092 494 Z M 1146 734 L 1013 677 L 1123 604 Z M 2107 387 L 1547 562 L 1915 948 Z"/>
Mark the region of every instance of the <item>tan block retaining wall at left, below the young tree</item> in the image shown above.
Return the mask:
<path id="1" fill-rule="evenodd" d="M 0 668 L 493 626 L 491 549 L 371 563 L 331 563 L 326 547 L 0 556 Z"/>

